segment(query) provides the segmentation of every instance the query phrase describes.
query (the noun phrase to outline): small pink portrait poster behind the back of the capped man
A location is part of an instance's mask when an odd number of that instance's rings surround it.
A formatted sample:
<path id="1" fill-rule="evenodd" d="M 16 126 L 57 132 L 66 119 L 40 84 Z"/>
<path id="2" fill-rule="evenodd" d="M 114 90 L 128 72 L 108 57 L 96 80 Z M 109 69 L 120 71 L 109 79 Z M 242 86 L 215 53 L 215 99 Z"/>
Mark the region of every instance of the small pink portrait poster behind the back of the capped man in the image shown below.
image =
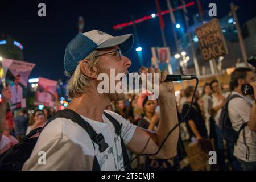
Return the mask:
<path id="1" fill-rule="evenodd" d="M 53 107 L 55 104 L 55 95 L 57 94 L 56 89 L 57 81 L 39 77 L 34 105 Z"/>

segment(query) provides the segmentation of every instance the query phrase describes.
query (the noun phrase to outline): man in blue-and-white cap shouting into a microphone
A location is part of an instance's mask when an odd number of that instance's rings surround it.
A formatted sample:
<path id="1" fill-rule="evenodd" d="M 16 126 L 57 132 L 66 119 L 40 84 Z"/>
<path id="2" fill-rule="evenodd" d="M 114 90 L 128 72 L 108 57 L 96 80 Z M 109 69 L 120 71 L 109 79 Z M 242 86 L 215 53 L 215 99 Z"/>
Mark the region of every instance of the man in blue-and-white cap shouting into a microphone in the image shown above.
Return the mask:
<path id="1" fill-rule="evenodd" d="M 92 170 L 96 156 L 101 170 L 123 170 L 120 136 L 104 112 L 115 118 L 121 127 L 121 137 L 126 148 L 135 154 L 154 154 L 162 144 L 168 131 L 178 122 L 174 86 L 163 82 L 167 72 L 159 69 L 141 68 L 143 73 L 159 73 L 160 121 L 158 129 L 148 131 L 105 110 L 112 101 L 123 100 L 123 93 L 99 93 L 97 80 L 100 73 L 110 76 L 110 69 L 118 73 L 128 73 L 131 61 L 123 53 L 133 46 L 133 34 L 115 36 L 92 30 L 77 35 L 65 49 L 64 68 L 71 76 L 68 95 L 73 100 L 68 109 L 75 111 L 88 122 L 97 133 L 104 136 L 108 148 L 100 152 L 95 149 L 88 133 L 77 123 L 66 118 L 56 118 L 49 123 L 38 138 L 38 142 L 23 170 Z M 122 51 L 122 52 L 121 52 Z M 117 82 L 115 82 L 117 85 Z M 179 129 L 174 130 L 155 158 L 169 159 L 176 155 Z M 38 164 L 38 152 L 46 152 L 46 164 Z"/>

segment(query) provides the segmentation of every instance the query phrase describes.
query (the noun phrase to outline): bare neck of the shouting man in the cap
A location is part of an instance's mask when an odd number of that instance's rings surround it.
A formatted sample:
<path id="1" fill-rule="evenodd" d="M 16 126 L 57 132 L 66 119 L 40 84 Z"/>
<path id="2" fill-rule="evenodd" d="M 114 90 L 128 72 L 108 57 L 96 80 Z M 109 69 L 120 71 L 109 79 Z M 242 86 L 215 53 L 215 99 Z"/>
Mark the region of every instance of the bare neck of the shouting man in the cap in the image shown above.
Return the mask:
<path id="1" fill-rule="evenodd" d="M 103 122 L 102 115 L 109 104 L 110 100 L 104 94 L 86 92 L 80 97 L 73 98 L 68 109 L 95 121 Z"/>

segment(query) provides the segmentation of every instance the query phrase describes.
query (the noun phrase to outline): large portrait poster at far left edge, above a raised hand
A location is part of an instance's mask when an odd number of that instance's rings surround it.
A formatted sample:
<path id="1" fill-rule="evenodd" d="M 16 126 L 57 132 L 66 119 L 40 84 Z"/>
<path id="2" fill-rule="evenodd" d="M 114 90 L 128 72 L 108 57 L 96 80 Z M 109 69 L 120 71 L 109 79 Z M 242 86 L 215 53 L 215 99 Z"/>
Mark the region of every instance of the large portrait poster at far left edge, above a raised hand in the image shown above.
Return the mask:
<path id="1" fill-rule="evenodd" d="M 26 107 L 27 80 L 35 64 L 26 61 L 3 59 L 2 67 L 5 75 L 5 84 L 11 89 L 10 109 Z"/>

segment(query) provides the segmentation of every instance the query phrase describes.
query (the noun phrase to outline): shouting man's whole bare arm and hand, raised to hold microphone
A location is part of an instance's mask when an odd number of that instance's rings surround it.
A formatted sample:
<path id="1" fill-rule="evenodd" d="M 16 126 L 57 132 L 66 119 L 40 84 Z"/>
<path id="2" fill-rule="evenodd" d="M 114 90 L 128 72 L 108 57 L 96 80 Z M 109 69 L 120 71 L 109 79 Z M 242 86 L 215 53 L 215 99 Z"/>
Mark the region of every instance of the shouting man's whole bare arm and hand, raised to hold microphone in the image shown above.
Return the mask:
<path id="1" fill-rule="evenodd" d="M 147 72 L 146 68 L 142 68 L 143 72 Z M 153 132 L 137 127 L 133 138 L 127 144 L 129 150 L 136 154 L 154 154 L 160 144 L 162 144 L 168 131 L 170 131 L 177 123 L 177 109 L 174 94 L 174 86 L 172 82 L 163 82 L 167 76 L 167 72 L 160 72 L 159 69 L 148 69 L 149 73 L 159 74 L 159 106 L 160 121 L 158 129 Z M 179 138 L 179 127 L 175 129 L 170 137 L 164 143 L 160 152 L 155 155 L 156 158 L 169 159 L 177 154 L 177 140 Z"/>

